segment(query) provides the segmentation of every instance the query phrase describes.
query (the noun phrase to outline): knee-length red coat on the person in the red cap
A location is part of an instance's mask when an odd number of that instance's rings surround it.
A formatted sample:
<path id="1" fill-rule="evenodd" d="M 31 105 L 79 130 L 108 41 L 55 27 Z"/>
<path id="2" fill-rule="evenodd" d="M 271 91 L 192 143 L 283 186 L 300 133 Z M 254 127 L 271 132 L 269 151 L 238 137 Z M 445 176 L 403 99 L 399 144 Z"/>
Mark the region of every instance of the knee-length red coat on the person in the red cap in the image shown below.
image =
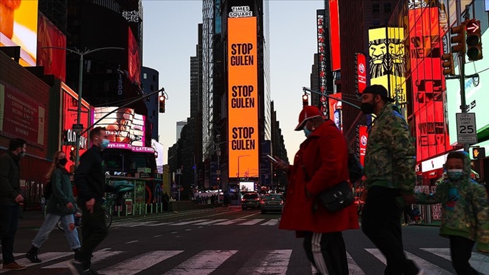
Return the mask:
<path id="1" fill-rule="evenodd" d="M 321 124 L 300 144 L 293 165 L 289 165 L 289 186 L 280 229 L 324 233 L 359 228 L 354 203 L 334 213 L 326 211 L 321 205 L 315 212 L 312 211 L 315 195 L 348 179 L 347 153 L 346 140 L 330 120 Z M 309 181 L 306 181 L 302 163 Z M 312 197 L 307 197 L 306 188 Z"/>

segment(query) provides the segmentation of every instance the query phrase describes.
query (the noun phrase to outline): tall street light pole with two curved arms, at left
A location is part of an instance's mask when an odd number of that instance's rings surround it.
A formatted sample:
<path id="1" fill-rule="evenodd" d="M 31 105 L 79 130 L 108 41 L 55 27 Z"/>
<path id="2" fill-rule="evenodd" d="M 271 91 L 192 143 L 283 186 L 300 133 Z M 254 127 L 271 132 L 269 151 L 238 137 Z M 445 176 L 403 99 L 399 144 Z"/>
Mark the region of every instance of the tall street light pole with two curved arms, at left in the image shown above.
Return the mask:
<path id="1" fill-rule="evenodd" d="M 91 54 L 92 52 L 98 52 L 100 50 L 124 50 L 123 47 L 99 47 L 94 50 L 85 50 L 85 52 L 80 52 L 80 50 L 75 49 L 71 50 L 66 47 L 42 47 L 43 49 L 60 49 L 60 50 L 66 50 L 68 52 L 73 52 L 74 54 L 78 54 L 80 56 L 80 71 L 78 72 L 78 107 L 76 110 L 76 123 L 77 124 L 82 124 L 81 123 L 81 116 L 82 116 L 82 87 L 83 87 L 83 57 L 85 54 Z M 75 168 L 78 167 L 78 164 L 80 164 L 80 133 L 76 134 L 76 140 L 75 140 Z"/>

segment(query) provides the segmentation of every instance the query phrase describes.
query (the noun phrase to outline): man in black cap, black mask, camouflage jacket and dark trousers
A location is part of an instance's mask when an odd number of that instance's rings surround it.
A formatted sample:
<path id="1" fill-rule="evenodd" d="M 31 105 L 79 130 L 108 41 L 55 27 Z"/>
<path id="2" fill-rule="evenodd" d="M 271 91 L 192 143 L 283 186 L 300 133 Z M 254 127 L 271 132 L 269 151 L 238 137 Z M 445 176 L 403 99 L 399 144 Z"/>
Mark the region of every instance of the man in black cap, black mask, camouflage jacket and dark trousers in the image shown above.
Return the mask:
<path id="1" fill-rule="evenodd" d="M 375 114 L 365 152 L 362 230 L 386 257 L 384 274 L 423 274 L 404 254 L 401 214 L 414 203 L 416 150 L 407 122 L 382 85 L 367 87 L 361 110 Z"/>

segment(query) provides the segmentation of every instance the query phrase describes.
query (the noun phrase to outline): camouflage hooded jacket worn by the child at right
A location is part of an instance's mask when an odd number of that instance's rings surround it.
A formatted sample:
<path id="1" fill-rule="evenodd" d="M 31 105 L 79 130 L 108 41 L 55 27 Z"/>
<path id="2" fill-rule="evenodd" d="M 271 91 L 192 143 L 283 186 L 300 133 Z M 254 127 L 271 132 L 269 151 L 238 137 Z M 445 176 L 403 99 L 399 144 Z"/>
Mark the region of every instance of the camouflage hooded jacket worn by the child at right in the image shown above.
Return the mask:
<path id="1" fill-rule="evenodd" d="M 434 194 L 416 193 L 416 202 L 424 205 L 441 202 L 441 236 L 465 237 L 476 241 L 479 250 L 489 251 L 488 194 L 484 186 L 470 177 L 469 154 L 465 153 L 463 162 L 460 179 L 445 179 Z"/>

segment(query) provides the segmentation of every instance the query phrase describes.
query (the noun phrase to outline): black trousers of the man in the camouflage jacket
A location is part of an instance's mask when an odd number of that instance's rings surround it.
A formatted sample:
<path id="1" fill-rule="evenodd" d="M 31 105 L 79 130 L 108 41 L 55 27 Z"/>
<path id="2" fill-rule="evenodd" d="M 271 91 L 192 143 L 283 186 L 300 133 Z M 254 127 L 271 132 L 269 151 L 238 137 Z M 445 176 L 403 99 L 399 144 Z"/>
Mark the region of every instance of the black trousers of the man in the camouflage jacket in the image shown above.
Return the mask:
<path id="1" fill-rule="evenodd" d="M 372 186 L 362 214 L 362 230 L 386 257 L 385 275 L 418 274 L 418 267 L 404 255 L 401 232 L 402 208 L 395 203 L 399 189 Z"/>

